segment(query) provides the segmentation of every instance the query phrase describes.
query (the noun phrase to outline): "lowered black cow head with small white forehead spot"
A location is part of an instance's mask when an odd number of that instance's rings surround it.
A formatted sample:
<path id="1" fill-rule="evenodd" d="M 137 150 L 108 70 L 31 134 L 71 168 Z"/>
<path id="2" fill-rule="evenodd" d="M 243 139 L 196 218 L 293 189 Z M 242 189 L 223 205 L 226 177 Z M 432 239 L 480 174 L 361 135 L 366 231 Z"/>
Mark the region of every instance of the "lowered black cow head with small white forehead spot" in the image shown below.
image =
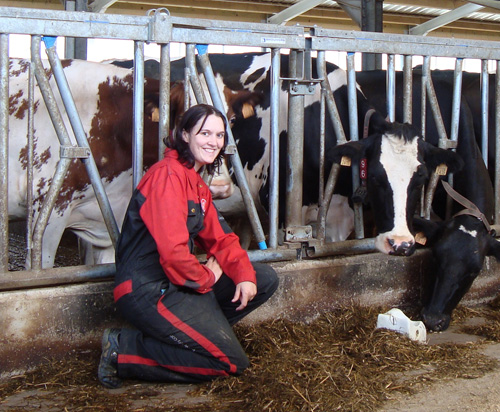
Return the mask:
<path id="1" fill-rule="evenodd" d="M 481 271 L 485 256 L 500 260 L 500 243 L 474 216 L 460 215 L 447 222 L 418 219 L 414 225 L 432 245 L 435 270 L 422 320 L 430 331 L 443 331 Z"/>

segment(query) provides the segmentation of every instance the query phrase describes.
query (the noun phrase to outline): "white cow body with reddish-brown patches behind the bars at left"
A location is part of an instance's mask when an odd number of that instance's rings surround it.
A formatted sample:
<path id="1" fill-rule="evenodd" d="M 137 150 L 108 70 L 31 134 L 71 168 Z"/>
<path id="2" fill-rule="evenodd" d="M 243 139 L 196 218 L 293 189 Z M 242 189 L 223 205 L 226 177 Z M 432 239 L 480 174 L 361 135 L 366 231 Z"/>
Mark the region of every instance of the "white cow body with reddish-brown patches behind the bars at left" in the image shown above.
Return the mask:
<path id="1" fill-rule="evenodd" d="M 9 68 L 9 219 L 25 219 L 27 213 L 28 61 L 12 59 Z M 97 168 L 119 225 L 132 193 L 133 76 L 130 70 L 86 61 L 62 62 L 64 73 L 87 133 Z M 65 119 L 69 121 L 49 69 L 50 84 Z M 145 83 L 145 94 L 158 93 L 158 82 Z M 59 140 L 38 88 L 34 115 L 34 218 L 38 216 L 59 160 Z M 155 160 L 158 125 L 145 113 L 145 164 Z M 94 191 L 81 160 L 74 159 L 50 216 L 42 241 L 42 266 L 50 267 L 63 231 L 68 228 L 96 247 L 97 263 L 114 261 L 114 250 Z"/>

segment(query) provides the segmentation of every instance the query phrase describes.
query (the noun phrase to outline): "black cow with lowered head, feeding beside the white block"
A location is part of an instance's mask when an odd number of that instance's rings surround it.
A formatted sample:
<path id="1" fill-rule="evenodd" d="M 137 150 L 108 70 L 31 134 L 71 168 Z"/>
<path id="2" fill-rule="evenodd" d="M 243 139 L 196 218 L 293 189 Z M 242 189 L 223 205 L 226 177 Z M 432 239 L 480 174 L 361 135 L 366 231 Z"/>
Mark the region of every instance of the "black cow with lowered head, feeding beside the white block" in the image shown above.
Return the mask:
<path id="1" fill-rule="evenodd" d="M 359 82 L 367 98 L 379 109 L 385 105 L 385 72 L 360 73 Z M 420 127 L 420 81 L 421 72 L 413 73 L 414 111 L 413 119 Z M 432 79 L 443 115 L 447 133 L 450 133 L 451 103 L 453 94 L 453 72 L 433 72 Z M 465 162 L 464 168 L 455 173 L 454 187 L 468 201 L 483 213 L 486 225 L 492 222 L 494 210 L 493 186 L 482 160 L 477 140 L 480 135 L 480 102 L 477 80 L 479 75 L 464 76 L 464 95 L 460 109 L 460 123 L 457 153 Z M 402 74 L 396 77 L 396 118 L 402 117 L 401 86 Z M 477 91 L 473 92 L 473 85 Z M 475 103 L 471 105 L 471 103 Z M 491 108 L 490 108 L 491 109 Z M 430 109 L 426 114 L 427 130 L 435 130 L 434 119 Z M 480 119 L 479 119 L 480 120 Z M 427 140 L 434 141 L 435 134 L 428 134 Z M 441 189 L 441 185 L 438 186 Z M 444 218 L 444 190 L 437 192 L 434 210 Z M 453 211 L 458 212 L 462 206 L 453 203 Z M 473 280 L 479 274 L 485 256 L 500 256 L 500 246 L 489 229 L 476 217 L 460 215 L 444 222 L 415 221 L 417 230 L 424 232 L 428 245 L 432 246 L 435 269 L 432 275 L 431 297 L 425 303 L 422 318 L 429 330 L 445 330 L 451 319 L 451 313 L 464 294 L 469 290 Z"/>

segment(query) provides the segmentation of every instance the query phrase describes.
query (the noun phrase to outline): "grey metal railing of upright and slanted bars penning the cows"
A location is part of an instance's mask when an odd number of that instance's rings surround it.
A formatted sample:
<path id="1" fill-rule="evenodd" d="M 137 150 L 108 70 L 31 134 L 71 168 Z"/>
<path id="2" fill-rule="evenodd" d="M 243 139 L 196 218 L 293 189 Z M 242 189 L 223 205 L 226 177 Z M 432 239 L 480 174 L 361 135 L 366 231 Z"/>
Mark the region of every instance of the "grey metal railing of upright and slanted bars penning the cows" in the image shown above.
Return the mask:
<path id="1" fill-rule="evenodd" d="M 283 171 L 278 170 L 279 165 L 279 145 L 278 145 L 278 135 L 279 135 L 279 125 L 278 125 L 278 112 L 280 105 L 284 102 L 280 101 L 279 89 L 282 82 L 286 81 L 291 84 L 291 93 L 289 99 L 290 110 L 292 114 L 289 116 L 291 123 L 288 125 L 290 138 L 289 145 L 294 146 L 298 154 L 294 156 L 292 161 L 292 168 L 300 171 L 304 167 L 301 165 L 300 156 L 300 144 L 303 141 L 303 92 L 301 92 L 302 85 L 309 82 L 310 84 L 321 84 L 322 97 L 321 104 L 324 116 L 330 116 L 336 135 L 338 136 L 338 142 L 342 143 L 347 141 L 345 133 L 342 130 L 342 124 L 340 121 L 340 116 L 338 110 L 335 106 L 335 100 L 333 98 L 332 90 L 328 82 L 328 73 L 325 68 L 325 52 L 326 51 L 342 51 L 347 52 L 347 81 L 348 81 L 348 99 L 351 107 L 356 107 L 356 73 L 354 68 L 354 51 L 356 52 L 366 52 L 366 53 L 384 53 L 388 55 L 388 69 L 387 69 L 387 83 L 388 83 L 388 100 L 387 100 L 387 111 L 389 113 L 389 118 L 394 118 L 394 57 L 396 55 L 402 55 L 405 57 L 405 67 L 404 67 L 404 112 L 405 120 L 411 121 L 411 94 L 412 94 L 412 70 L 411 70 L 411 56 L 418 55 L 424 56 L 424 68 L 423 68 L 423 104 L 429 102 L 432 113 L 436 119 L 438 125 L 438 130 L 440 134 L 439 146 L 443 148 L 454 148 L 456 147 L 457 140 L 457 124 L 460 106 L 460 84 L 461 84 L 461 62 L 466 58 L 481 59 L 482 64 L 482 84 L 486 91 L 482 91 L 482 104 L 483 112 L 487 113 L 487 71 L 486 62 L 488 60 L 494 60 L 497 62 L 497 72 L 500 61 L 500 42 L 485 42 L 485 41 L 465 41 L 457 39 L 442 39 L 442 38 L 432 38 L 432 37 L 420 37 L 411 35 L 391 35 L 384 33 L 367 33 L 367 32 L 351 32 L 351 31 L 340 31 L 340 30 L 326 30 L 322 28 L 315 27 L 312 30 L 305 29 L 303 27 L 293 26 L 276 26 L 272 24 L 256 24 L 256 23 L 240 23 L 240 22 L 224 22 L 224 21 L 207 21 L 202 19 L 183 19 L 170 16 L 167 11 L 160 9 L 150 12 L 147 16 L 120 16 L 120 15 L 107 15 L 107 14 L 97 14 L 97 13 L 82 13 L 82 12 L 67 12 L 67 11 L 47 11 L 47 10 L 30 10 L 30 9 L 16 9 L 16 8 L 0 8 L 0 27 L 3 31 L 0 34 L 0 242 L 2 244 L 0 250 L 0 278 L 2 273 L 5 279 L 8 268 L 8 191 L 7 191 L 7 164 L 8 164 L 8 36 L 9 34 L 28 34 L 33 36 L 33 71 L 37 78 L 38 87 L 45 90 L 44 96 L 47 104 L 51 105 L 50 97 L 51 91 L 46 87 L 46 80 L 43 78 L 42 70 L 40 70 L 41 63 L 38 62 L 39 59 L 39 43 L 41 36 L 45 38 L 50 38 L 54 36 L 61 37 L 83 37 L 83 38 L 105 38 L 105 39 L 128 39 L 134 41 L 134 151 L 133 151 L 133 185 L 137 185 L 143 173 L 143 106 L 142 99 L 144 97 L 144 43 L 157 43 L 161 47 L 161 74 L 160 74 L 160 126 L 159 126 L 159 136 L 158 139 L 160 143 L 163 138 L 168 134 L 169 127 L 169 100 L 170 100 L 170 49 L 169 44 L 171 42 L 181 42 L 188 45 L 195 45 L 199 43 L 200 39 L 206 44 L 218 44 L 218 45 L 238 45 L 238 46 L 248 46 L 248 47 L 265 47 L 271 50 L 271 62 L 270 62 L 270 73 L 271 73 L 271 130 L 270 133 L 270 223 L 269 223 L 269 250 L 260 251 L 250 251 L 250 256 L 253 260 L 281 260 L 281 259 L 296 259 L 302 257 L 317 257 L 323 256 L 325 254 L 336 254 L 336 253 L 360 253 L 368 252 L 374 250 L 372 239 L 362 239 L 364 238 L 363 233 L 363 218 L 362 218 L 362 208 L 361 205 L 355 205 L 356 211 L 356 238 L 361 239 L 359 241 L 347 241 L 339 242 L 338 244 L 326 244 L 325 239 L 325 220 L 326 211 L 330 204 L 331 195 L 334 191 L 335 182 L 337 179 L 339 166 L 335 165 L 332 169 L 330 175 L 328 176 L 327 183 L 325 186 L 324 179 L 325 176 L 320 177 L 320 196 L 318 202 L 320 204 L 318 220 L 320 222 L 318 237 L 317 239 L 311 239 L 310 235 L 307 234 L 305 238 L 298 236 L 296 247 L 292 247 L 287 250 L 282 250 L 278 247 L 278 174 Z M 188 46 L 188 57 L 194 57 L 194 52 L 190 50 Z M 88 143 L 86 143 L 85 131 L 79 123 L 78 113 L 74 108 L 74 103 L 71 99 L 70 92 L 65 84 L 64 75 L 60 68 L 60 63 L 58 62 L 58 57 L 54 52 L 53 47 L 47 47 L 48 57 L 51 63 L 54 74 L 58 80 L 59 91 L 63 96 L 65 102 L 66 110 L 72 114 L 73 121 L 71 122 L 73 133 L 77 137 L 78 147 L 75 148 L 71 144 L 68 144 L 66 140 L 67 131 L 65 131 L 61 126 L 64 124 L 62 120 L 57 119 L 57 109 L 51 110 L 53 113 L 54 127 L 58 130 L 58 136 L 61 141 L 62 155 L 61 161 L 58 165 L 58 171 L 55 176 L 59 176 L 54 181 L 60 182 L 60 179 L 64 178 L 65 171 L 68 167 L 68 159 L 72 157 L 84 158 L 89 176 L 94 184 L 95 191 L 98 199 L 100 200 L 101 209 L 103 210 L 104 218 L 106 221 L 110 237 L 116 240 L 118 236 L 118 228 L 111 211 L 109 202 L 107 201 L 106 194 L 102 187 L 99 187 L 100 178 L 98 171 L 95 167 L 95 163 L 92 160 L 92 154 L 88 150 Z M 280 73 L 282 68 L 280 67 L 280 52 L 282 50 L 290 51 L 291 55 L 291 73 L 287 78 L 280 78 Z M 191 53 L 191 54 L 190 54 Z M 314 73 L 309 71 L 309 62 L 312 53 L 317 54 L 317 61 L 319 72 L 315 76 Z M 297 57 L 298 56 L 298 57 Z M 429 69 L 429 58 L 430 56 L 442 56 L 442 57 L 455 57 L 457 59 L 457 65 L 455 69 L 454 78 L 454 95 L 453 95 L 453 121 L 451 125 L 451 137 L 446 136 L 445 125 L 442 123 L 441 115 L 439 113 L 439 104 L 435 95 L 435 91 L 432 85 L 432 77 L 430 75 Z M 208 89 L 210 90 L 212 101 L 215 105 L 223 107 L 219 91 L 217 90 L 216 84 L 213 79 L 213 72 L 210 68 L 210 57 L 205 53 L 198 53 L 198 58 L 202 63 L 203 74 L 205 81 L 208 84 Z M 298 59 L 298 60 L 297 60 Z M 187 59 L 190 60 L 190 59 Z M 299 66 L 294 66 L 294 64 L 299 62 Z M 197 83 L 197 77 L 195 73 L 192 72 L 192 67 L 194 62 L 191 60 L 188 65 L 191 65 L 191 72 L 186 75 L 186 79 L 192 85 L 193 89 L 200 89 L 202 86 Z M 302 68 L 304 71 L 302 71 Z M 189 74 L 191 73 L 191 74 Z M 191 77 L 190 77 L 191 76 Z M 192 77 L 195 76 L 195 77 Z M 186 82 L 188 83 L 188 82 Z M 298 91 L 293 90 L 293 85 L 298 86 Z M 187 85 L 186 85 L 187 86 Z M 316 86 L 314 86 L 316 87 Z M 308 93 L 305 91 L 304 93 Z M 496 81 L 496 101 L 497 106 L 500 102 L 500 81 Z M 67 98 L 65 98 L 67 97 Z M 200 97 L 202 99 L 202 97 Z M 358 119 L 355 110 L 350 110 L 350 140 L 358 139 Z M 422 110 L 423 116 L 425 116 L 425 110 Z M 323 150 L 321 153 L 324 156 L 324 118 L 321 120 L 323 126 Z M 492 119 L 490 119 L 492 121 Z M 485 159 L 488 157 L 487 152 L 487 125 L 488 118 L 482 120 L 483 125 L 483 135 L 482 135 L 482 149 L 483 156 Z M 422 119 L 422 125 L 425 124 L 425 118 Z M 498 114 L 495 118 L 495 124 L 497 125 L 496 135 L 498 136 L 500 115 Z M 31 126 L 32 127 L 32 126 Z M 29 128 L 28 128 L 29 129 Z M 425 134 L 425 130 L 422 130 Z M 28 133 L 29 134 L 29 133 Z M 234 147 L 234 141 L 230 142 Z M 495 178 L 495 188 L 499 187 L 499 171 L 500 166 L 500 145 L 496 145 L 497 152 L 495 153 L 497 161 L 495 162 L 496 167 L 496 178 Z M 68 147 L 68 149 L 64 149 Z M 158 156 L 162 154 L 163 146 L 160 144 Z M 486 153 L 486 154 L 485 154 Z M 251 216 L 252 226 L 256 234 L 259 243 L 265 242 L 264 230 L 258 219 L 257 212 L 255 211 L 255 206 L 253 205 L 253 200 L 248 188 L 245 188 L 245 179 L 243 168 L 241 162 L 237 157 L 234 158 L 233 166 L 236 170 L 236 175 L 238 176 L 238 182 L 240 188 L 243 190 L 243 197 L 246 198 L 246 205 L 249 210 L 249 215 Z M 324 164 L 324 159 L 318 159 L 320 164 Z M 485 160 L 487 162 L 487 160 Z M 239 163 L 239 164 L 238 164 Z M 354 187 L 359 185 L 358 172 L 353 168 L 353 183 Z M 295 173 L 295 172 L 294 172 Z M 295 174 L 294 174 L 295 176 Z M 434 179 L 437 183 L 437 179 Z M 60 183 L 59 183 L 60 184 Z M 301 184 L 298 186 L 292 186 L 291 195 L 289 197 L 288 203 L 297 202 L 301 205 L 300 199 L 297 200 L 297 192 L 301 193 Z M 325 186 L 323 190 L 323 186 Z M 435 188 L 435 187 L 434 187 Z M 434 188 L 429 185 L 427 190 L 427 196 L 425 199 L 425 215 L 428 215 L 430 202 L 432 199 L 432 194 Z M 57 196 L 57 186 L 54 185 L 53 194 L 48 196 L 49 198 L 54 198 Z M 500 206 L 498 190 L 496 192 L 495 201 L 495 223 L 498 223 L 500 217 Z M 300 194 L 299 193 L 299 194 Z M 47 200 L 49 202 L 49 200 Z M 50 216 L 50 202 L 47 206 L 47 211 L 44 212 L 43 219 L 40 220 L 40 224 L 35 224 L 34 234 L 33 234 L 33 245 L 30 247 L 33 251 L 33 268 L 36 269 L 36 273 L 40 273 L 40 242 L 43 235 L 44 224 L 42 221 L 47 221 Z M 291 226 L 291 231 L 294 234 L 303 234 L 301 232 L 301 208 L 290 204 L 287 207 L 286 222 Z M 291 240 L 291 239 L 288 239 Z M 316 242 L 311 242 L 309 240 L 317 240 Z M 293 242 L 292 242 L 293 243 Z M 102 265 L 103 271 L 102 276 L 109 276 L 111 273 L 109 265 Z M 86 279 L 85 275 L 82 275 L 82 269 L 74 269 L 78 278 Z M 33 272 L 33 273 L 35 273 Z M 57 272 L 57 271 L 55 271 Z M 54 273 L 55 273 L 54 272 Z M 65 279 L 67 279 L 68 273 L 71 273 L 71 269 L 64 271 Z M 91 275 L 89 279 L 99 278 L 99 269 L 92 268 Z M 96 275 L 97 273 L 97 275 Z M 23 279 L 31 279 L 32 274 L 18 275 L 17 280 L 12 280 L 7 282 L 8 285 L 0 286 L 1 288 L 9 289 L 16 282 L 19 285 L 22 284 Z M 38 275 L 37 275 L 38 276 Z M 56 276 L 56 275 L 54 275 Z M 70 276 L 70 275 L 69 275 Z M 9 278 L 10 279 L 10 278 Z M 57 282 L 57 280 L 54 280 Z M 33 285 L 33 283 L 29 283 Z"/>

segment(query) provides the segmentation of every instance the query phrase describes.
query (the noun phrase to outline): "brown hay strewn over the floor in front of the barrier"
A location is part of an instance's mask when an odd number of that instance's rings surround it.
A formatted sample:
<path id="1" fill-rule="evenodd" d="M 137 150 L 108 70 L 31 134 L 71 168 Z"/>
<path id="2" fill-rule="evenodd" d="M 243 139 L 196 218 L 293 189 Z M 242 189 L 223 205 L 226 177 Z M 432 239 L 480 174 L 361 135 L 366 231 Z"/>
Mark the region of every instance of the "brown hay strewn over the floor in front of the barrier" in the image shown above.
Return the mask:
<path id="1" fill-rule="evenodd" d="M 496 367 L 478 354 L 481 344 L 428 346 L 375 330 L 377 314 L 384 311 L 353 306 L 307 325 L 276 320 L 237 327 L 251 367 L 240 377 L 197 386 L 189 396 L 201 403 L 165 400 L 169 385 L 128 381 L 119 393 L 105 390 L 96 378 L 99 353 L 86 352 L 0 383 L 0 409 L 9 396 L 43 388 L 30 395 L 32 407 L 49 410 L 50 400 L 53 410 L 68 411 L 374 411 L 396 392 L 413 393 L 436 380 L 476 378 Z M 466 317 L 462 311 L 456 319 Z M 500 323 L 497 328 L 490 331 L 492 339 L 500 336 Z"/>

